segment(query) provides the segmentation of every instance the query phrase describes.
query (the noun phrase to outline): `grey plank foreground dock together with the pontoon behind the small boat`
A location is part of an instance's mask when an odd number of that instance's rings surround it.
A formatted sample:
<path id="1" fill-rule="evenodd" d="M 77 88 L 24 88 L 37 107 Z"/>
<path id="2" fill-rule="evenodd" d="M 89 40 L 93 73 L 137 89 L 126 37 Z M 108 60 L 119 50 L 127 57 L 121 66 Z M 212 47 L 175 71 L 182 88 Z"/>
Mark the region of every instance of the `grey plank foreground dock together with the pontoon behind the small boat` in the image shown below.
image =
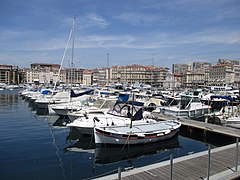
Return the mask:
<path id="1" fill-rule="evenodd" d="M 158 115 L 158 118 L 162 120 L 174 119 L 173 117 L 162 115 Z M 122 180 L 240 179 L 239 129 L 189 119 L 178 120 L 183 126 L 235 137 L 237 143 L 179 157 L 172 161 L 168 160 L 149 166 L 133 168 L 129 171 L 123 171 L 121 174 L 117 173 L 99 179 L 120 179 L 119 176 L 121 176 Z"/>

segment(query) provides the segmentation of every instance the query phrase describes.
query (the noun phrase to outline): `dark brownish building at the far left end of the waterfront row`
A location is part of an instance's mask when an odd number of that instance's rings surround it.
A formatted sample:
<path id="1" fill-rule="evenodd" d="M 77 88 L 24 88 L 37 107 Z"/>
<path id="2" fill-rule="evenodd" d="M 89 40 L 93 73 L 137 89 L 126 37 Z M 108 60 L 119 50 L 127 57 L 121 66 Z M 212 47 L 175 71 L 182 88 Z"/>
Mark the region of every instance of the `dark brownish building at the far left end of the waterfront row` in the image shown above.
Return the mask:
<path id="1" fill-rule="evenodd" d="M 0 65 L 0 84 L 19 84 L 20 81 L 18 66 Z"/>

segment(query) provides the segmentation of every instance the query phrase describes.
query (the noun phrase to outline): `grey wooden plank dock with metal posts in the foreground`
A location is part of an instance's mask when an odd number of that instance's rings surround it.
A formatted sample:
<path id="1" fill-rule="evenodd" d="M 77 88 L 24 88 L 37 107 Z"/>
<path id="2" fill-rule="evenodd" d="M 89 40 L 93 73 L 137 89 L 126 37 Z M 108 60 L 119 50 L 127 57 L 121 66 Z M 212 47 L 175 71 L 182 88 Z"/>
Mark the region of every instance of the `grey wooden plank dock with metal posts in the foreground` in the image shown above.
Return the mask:
<path id="1" fill-rule="evenodd" d="M 209 151 L 204 151 L 184 157 L 164 161 L 149 166 L 133 168 L 121 173 L 122 180 L 195 180 L 207 179 L 208 167 L 209 179 L 237 179 L 240 178 L 239 165 L 236 172 L 236 144 L 216 148 L 211 150 L 210 166 Z M 239 157 L 238 157 L 239 158 Z M 172 172 L 172 173 L 171 173 Z M 119 174 L 104 176 L 99 179 L 118 179 Z"/>

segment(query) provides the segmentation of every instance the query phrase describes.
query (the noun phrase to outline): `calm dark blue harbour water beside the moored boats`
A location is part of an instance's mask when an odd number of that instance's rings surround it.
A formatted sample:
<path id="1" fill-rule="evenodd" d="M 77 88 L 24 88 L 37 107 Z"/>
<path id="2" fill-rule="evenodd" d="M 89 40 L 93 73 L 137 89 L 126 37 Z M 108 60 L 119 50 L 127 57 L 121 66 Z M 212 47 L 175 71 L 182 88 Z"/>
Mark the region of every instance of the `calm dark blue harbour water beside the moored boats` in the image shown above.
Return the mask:
<path id="1" fill-rule="evenodd" d="M 118 167 L 140 167 L 189 153 L 225 145 L 216 137 L 181 133 L 146 146 L 95 148 L 92 137 L 56 126 L 56 116 L 38 116 L 18 90 L 0 92 L 1 179 L 91 179 L 117 172 Z M 185 131 L 185 130 L 184 130 Z M 194 139 L 192 139 L 194 138 Z M 78 140 L 79 139 L 79 140 Z M 214 143 L 213 143 L 214 142 Z M 234 141 L 233 141 L 234 142 Z"/>

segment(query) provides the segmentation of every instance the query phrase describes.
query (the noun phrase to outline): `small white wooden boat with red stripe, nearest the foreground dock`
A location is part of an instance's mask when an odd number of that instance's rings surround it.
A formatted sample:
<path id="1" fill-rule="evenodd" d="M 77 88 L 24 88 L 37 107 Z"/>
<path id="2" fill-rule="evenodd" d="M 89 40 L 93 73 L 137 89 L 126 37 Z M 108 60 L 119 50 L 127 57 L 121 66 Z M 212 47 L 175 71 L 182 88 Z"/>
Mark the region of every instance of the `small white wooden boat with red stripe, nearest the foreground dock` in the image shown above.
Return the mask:
<path id="1" fill-rule="evenodd" d="M 125 126 L 94 127 L 95 144 L 146 144 L 172 138 L 181 123 L 177 120 Z"/>

